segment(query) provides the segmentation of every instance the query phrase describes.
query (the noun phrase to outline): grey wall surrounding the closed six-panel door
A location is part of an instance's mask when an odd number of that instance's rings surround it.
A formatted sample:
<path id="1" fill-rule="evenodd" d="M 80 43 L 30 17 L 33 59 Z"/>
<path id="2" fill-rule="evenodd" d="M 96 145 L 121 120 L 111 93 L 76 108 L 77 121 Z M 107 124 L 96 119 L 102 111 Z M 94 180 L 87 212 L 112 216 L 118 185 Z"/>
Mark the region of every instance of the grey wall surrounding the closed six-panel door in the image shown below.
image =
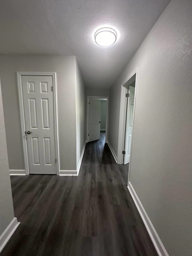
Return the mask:
<path id="1" fill-rule="evenodd" d="M 25 169 L 16 71 L 56 72 L 60 169 L 76 170 L 75 56 L 0 55 L 10 169 Z"/>

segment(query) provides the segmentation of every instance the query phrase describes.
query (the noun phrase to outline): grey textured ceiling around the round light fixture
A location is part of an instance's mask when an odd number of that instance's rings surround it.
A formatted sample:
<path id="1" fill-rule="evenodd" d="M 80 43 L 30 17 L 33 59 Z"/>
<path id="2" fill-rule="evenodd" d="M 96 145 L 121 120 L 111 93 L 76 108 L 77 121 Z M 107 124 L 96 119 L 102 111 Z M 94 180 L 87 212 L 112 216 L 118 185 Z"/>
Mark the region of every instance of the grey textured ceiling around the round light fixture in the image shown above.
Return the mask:
<path id="1" fill-rule="evenodd" d="M 170 0 L 1 0 L 0 53 L 76 55 L 86 87 L 110 88 Z M 98 27 L 116 29 L 101 47 Z"/>

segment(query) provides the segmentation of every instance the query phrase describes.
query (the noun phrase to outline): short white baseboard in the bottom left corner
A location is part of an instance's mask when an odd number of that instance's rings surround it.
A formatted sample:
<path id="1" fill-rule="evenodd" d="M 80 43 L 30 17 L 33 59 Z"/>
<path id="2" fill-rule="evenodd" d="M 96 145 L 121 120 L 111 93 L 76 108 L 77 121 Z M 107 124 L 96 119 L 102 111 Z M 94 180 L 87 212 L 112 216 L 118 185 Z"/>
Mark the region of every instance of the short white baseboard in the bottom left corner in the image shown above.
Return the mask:
<path id="1" fill-rule="evenodd" d="M 6 243 L 9 241 L 17 227 L 19 226 L 20 222 L 17 221 L 17 218 L 14 217 L 13 220 L 10 222 L 10 224 L 7 226 L 7 228 L 4 230 L 4 232 L 0 236 L 0 252 L 3 250 Z"/>

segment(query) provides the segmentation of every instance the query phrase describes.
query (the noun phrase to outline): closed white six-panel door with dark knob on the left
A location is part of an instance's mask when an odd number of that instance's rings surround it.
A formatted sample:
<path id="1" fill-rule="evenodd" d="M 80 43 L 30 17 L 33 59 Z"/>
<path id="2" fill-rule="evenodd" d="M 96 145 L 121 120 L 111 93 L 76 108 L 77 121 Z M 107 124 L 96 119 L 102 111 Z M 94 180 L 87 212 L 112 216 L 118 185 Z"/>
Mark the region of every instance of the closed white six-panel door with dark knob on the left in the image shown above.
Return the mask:
<path id="1" fill-rule="evenodd" d="M 22 76 L 30 174 L 56 174 L 52 76 Z"/>

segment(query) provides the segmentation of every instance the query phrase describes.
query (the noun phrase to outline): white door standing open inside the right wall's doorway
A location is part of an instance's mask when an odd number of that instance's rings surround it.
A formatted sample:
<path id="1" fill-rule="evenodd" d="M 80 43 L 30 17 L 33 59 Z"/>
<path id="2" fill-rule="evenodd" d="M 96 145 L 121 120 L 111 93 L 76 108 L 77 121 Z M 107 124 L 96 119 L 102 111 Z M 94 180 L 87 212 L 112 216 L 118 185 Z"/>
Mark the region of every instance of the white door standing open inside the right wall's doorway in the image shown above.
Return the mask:
<path id="1" fill-rule="evenodd" d="M 129 86 L 128 93 L 129 93 L 129 97 L 128 97 L 128 104 L 127 104 L 127 118 L 126 118 L 126 130 L 125 130 L 124 164 L 128 164 L 130 161 L 135 88 L 133 86 Z"/>

